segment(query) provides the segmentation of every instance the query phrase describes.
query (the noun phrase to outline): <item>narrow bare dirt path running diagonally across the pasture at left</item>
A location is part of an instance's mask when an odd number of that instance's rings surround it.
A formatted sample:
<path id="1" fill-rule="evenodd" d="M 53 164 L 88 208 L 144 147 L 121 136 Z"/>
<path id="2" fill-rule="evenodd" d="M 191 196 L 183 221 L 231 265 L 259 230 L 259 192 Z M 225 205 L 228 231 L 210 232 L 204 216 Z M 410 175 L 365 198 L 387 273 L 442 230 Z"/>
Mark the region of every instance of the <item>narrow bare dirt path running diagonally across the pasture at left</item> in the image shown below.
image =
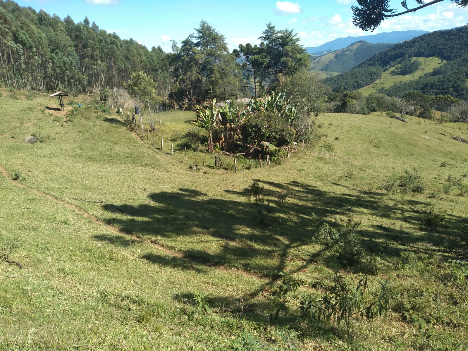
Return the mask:
<path id="1" fill-rule="evenodd" d="M 180 253 L 180 252 L 177 252 L 177 251 L 173 251 L 173 250 L 170 250 L 170 249 L 167 249 L 165 248 L 164 246 L 162 245 L 159 245 L 159 244 L 155 244 L 154 242 L 151 242 L 151 241 L 147 241 L 147 240 L 143 240 L 141 238 L 139 238 L 138 236 L 135 236 L 135 235 L 132 235 L 132 234 L 129 234 L 129 233 L 125 233 L 124 231 L 122 231 L 121 229 L 119 229 L 118 227 L 114 227 L 110 224 L 107 224 L 107 223 L 104 223 L 102 221 L 100 221 L 99 219 L 97 219 L 96 217 L 94 217 L 93 215 L 89 214 L 88 212 L 82 210 L 80 207 L 76 206 L 76 205 L 73 205 L 69 202 L 66 202 L 64 200 L 61 200 L 57 197 L 53 197 L 52 195 L 50 194 L 47 194 L 47 193 L 44 193 L 40 190 L 37 190 L 37 189 L 34 189 L 34 188 L 30 188 L 29 186 L 27 185 L 24 185 L 22 183 L 18 183 L 17 181 L 13 181 L 10 179 L 10 175 L 8 174 L 8 171 L 7 169 L 5 169 L 3 166 L 0 165 L 0 173 L 13 185 L 17 186 L 17 187 L 20 187 L 22 189 L 27 189 L 31 192 L 33 192 L 34 194 L 40 196 L 40 197 L 45 197 L 47 198 L 48 200 L 51 200 L 53 202 L 55 202 L 56 204 L 59 204 L 59 205 L 62 205 L 62 206 L 66 206 L 68 207 L 69 209 L 73 210 L 74 212 L 80 214 L 81 216 L 85 217 L 85 218 L 88 218 L 88 219 L 91 219 L 93 222 L 95 222 L 96 224 L 99 224 L 100 226 L 103 226 L 103 227 L 106 227 L 108 228 L 110 231 L 116 233 L 116 234 L 121 234 L 121 235 L 125 235 L 129 238 L 132 238 L 133 240 L 135 241 L 139 241 L 139 242 L 143 242 L 147 245 L 150 245 L 160 251 L 162 251 L 163 253 L 165 253 L 166 255 L 169 255 L 169 256 L 175 256 L 177 258 L 181 258 L 183 260 L 186 260 L 190 263 L 193 263 L 194 265 L 203 265 L 203 266 L 206 266 L 206 267 L 212 267 L 212 268 L 216 268 L 220 271 L 225 271 L 225 272 L 230 272 L 230 273 L 233 273 L 233 274 L 241 274 L 245 277 L 249 277 L 249 278 L 256 278 L 256 279 L 261 279 L 261 280 L 264 280 L 265 276 L 263 275 L 260 275 L 260 274 L 254 274 L 254 273 L 251 273 L 251 272 L 246 272 L 246 271 L 242 271 L 242 270 L 238 270 L 238 269 L 235 269 L 235 268 L 231 268 L 231 267 L 227 267 L 227 266 L 223 266 L 223 265 L 219 265 L 219 264 L 210 264 L 210 263 L 201 263 L 201 262 L 198 262 L 196 258 L 193 258 L 193 257 L 189 257 L 189 256 L 185 256 L 183 255 L 183 253 Z"/>

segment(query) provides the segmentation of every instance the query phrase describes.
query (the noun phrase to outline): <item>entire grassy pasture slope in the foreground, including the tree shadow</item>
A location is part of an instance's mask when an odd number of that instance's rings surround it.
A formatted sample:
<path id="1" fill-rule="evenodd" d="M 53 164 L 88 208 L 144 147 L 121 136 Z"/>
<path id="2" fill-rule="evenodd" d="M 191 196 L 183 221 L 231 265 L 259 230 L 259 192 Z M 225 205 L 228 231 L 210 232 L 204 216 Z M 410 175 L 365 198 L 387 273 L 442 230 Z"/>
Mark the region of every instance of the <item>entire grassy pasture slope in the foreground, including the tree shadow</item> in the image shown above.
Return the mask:
<path id="1" fill-rule="evenodd" d="M 56 103 L 43 95 L 7 95 L 1 349 L 467 347 L 466 277 L 449 263 L 467 256 L 468 146 L 450 138 L 467 138 L 467 124 L 323 114 L 305 151 L 272 166 L 240 159 L 236 172 L 227 156 L 227 170 L 208 154 L 202 166 L 205 135 L 190 112 L 161 113 L 153 145 L 84 99 L 64 117 L 43 109 Z M 25 144 L 31 134 L 42 142 Z M 263 204 L 249 197 L 253 181 Z M 398 186 L 412 181 L 424 191 Z M 329 228 L 352 240 L 334 247 L 320 239 Z M 285 268 L 303 283 L 273 322 L 268 296 Z M 352 318 L 351 336 L 335 318 L 307 322 L 298 310 L 304 294 L 333 285 L 334 270 L 349 284 L 368 275 L 363 304 L 379 281 L 393 291 L 382 317 Z"/>

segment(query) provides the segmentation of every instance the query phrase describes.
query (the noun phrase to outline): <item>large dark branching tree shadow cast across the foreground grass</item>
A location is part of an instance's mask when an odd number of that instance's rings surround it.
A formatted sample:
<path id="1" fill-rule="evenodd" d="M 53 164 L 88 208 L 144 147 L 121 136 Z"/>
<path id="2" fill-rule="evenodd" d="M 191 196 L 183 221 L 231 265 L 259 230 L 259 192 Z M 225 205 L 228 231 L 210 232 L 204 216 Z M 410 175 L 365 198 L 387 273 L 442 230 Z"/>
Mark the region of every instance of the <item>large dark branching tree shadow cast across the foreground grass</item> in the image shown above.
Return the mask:
<path id="1" fill-rule="evenodd" d="M 263 275 L 263 281 L 242 295 L 232 292 L 227 282 L 225 293 L 205 296 L 214 313 L 229 314 L 259 325 L 271 323 L 270 315 L 274 314 L 275 306 L 264 295 L 274 288 L 280 278 L 278 272 L 286 266 L 291 267 L 294 263 L 291 274 L 310 268 L 316 262 L 330 270 L 341 268 L 359 272 L 363 269 L 363 265 L 353 266 L 333 259 L 329 255 L 333 244 L 314 241 L 317 221 L 313 214 L 326 219 L 335 228 L 344 227 L 349 220 L 359 220 L 364 215 L 365 218 L 369 215 L 386 218 L 385 225 L 366 223 L 357 233 L 366 255 L 378 256 L 390 266 L 400 260 L 413 259 L 415 254 L 429 257 L 437 254 L 448 260 L 454 258 L 454 254 L 445 240 L 454 240 L 454 247 L 462 240 L 466 241 L 465 222 L 450 213 L 446 215 L 443 230 L 427 232 L 421 229 L 421 218 L 428 204 L 415 198 L 392 201 L 385 193 L 352 189 L 341 184 L 336 184 L 340 185 L 339 190 L 333 192 L 300 182 L 258 182 L 265 186 L 264 204 L 253 203 L 247 191 L 226 190 L 226 198 L 223 198 L 222 195 L 211 197 L 198 190 L 180 188 L 173 192 L 151 193 L 148 203 L 118 205 L 127 217 L 108 219 L 107 223 L 158 244 L 182 248 L 183 257 L 167 257 L 149 251 L 141 258 L 150 264 L 200 274 L 210 271 L 205 265 L 222 264 Z M 284 196 L 286 199 L 281 201 Z M 110 205 L 103 205 L 103 208 L 115 212 Z M 109 238 L 102 239 L 110 242 Z M 193 302 L 197 292 L 191 291 L 190 287 L 182 289 L 174 300 L 190 304 L 190 312 L 193 307 L 197 308 Z M 281 313 L 276 323 L 288 328 L 300 324 L 303 328 L 307 323 L 301 322 L 300 318 L 298 312 L 291 309 L 287 314 Z M 305 329 L 307 335 L 322 339 L 345 337 L 332 327 L 307 324 Z"/>

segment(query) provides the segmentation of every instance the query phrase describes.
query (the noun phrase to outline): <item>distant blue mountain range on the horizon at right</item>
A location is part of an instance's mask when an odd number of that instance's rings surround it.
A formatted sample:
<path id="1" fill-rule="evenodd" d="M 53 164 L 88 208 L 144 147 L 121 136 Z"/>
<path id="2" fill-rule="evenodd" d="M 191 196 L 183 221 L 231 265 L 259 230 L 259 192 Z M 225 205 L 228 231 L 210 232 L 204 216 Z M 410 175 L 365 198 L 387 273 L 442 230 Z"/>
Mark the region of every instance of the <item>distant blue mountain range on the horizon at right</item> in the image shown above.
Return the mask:
<path id="1" fill-rule="evenodd" d="M 345 38 L 336 38 L 331 42 L 322 44 L 316 47 L 306 47 L 306 50 L 311 55 L 323 55 L 330 51 L 343 49 L 348 47 L 352 43 L 355 43 L 360 40 L 365 40 L 367 43 L 377 44 L 377 43 L 391 43 L 396 44 L 400 43 L 403 40 L 409 40 L 414 37 L 419 37 L 425 33 L 429 33 L 426 30 L 394 30 L 389 33 L 379 33 L 369 36 L 360 36 L 360 37 L 345 37 Z"/>

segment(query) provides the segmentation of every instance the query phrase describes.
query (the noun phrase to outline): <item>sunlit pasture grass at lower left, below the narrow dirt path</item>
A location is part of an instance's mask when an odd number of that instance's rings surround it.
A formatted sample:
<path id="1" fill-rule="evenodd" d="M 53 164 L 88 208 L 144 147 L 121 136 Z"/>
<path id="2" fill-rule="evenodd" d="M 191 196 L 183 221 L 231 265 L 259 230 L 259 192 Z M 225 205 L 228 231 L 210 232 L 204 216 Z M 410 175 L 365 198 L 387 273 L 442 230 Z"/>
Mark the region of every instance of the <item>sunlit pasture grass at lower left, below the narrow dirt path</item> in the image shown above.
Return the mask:
<path id="1" fill-rule="evenodd" d="M 228 350 L 252 326 L 190 299 L 235 309 L 262 281 L 168 256 L 3 176 L 0 189 L 0 247 L 22 264 L 0 265 L 1 350 Z"/>

